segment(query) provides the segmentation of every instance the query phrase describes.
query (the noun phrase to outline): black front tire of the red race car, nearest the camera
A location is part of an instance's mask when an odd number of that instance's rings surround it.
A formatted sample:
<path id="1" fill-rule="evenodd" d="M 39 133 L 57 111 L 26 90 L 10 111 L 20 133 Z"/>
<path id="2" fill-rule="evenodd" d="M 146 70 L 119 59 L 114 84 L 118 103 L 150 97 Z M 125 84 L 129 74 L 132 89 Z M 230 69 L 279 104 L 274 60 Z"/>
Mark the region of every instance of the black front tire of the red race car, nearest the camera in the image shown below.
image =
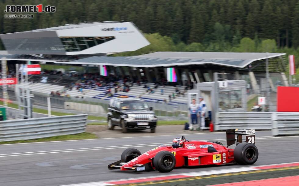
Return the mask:
<path id="1" fill-rule="evenodd" d="M 168 151 L 160 151 L 156 154 L 153 164 L 161 173 L 168 173 L 175 168 L 175 156 Z"/>

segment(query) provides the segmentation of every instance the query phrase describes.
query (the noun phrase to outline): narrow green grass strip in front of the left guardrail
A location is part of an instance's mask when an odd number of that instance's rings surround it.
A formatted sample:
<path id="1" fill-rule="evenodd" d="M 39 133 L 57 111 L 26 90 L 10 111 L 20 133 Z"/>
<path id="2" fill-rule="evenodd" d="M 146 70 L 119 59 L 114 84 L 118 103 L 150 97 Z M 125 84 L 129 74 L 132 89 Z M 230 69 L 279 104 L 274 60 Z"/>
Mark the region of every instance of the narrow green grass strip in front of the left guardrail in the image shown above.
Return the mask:
<path id="1" fill-rule="evenodd" d="M 98 137 L 95 134 L 83 132 L 80 134 L 53 136 L 53 137 L 39 138 L 39 139 L 34 139 L 34 140 L 3 141 L 3 142 L 0 142 L 0 144 L 32 143 L 32 142 L 64 141 L 64 140 L 87 140 L 87 139 L 97 139 L 97 138 Z"/>

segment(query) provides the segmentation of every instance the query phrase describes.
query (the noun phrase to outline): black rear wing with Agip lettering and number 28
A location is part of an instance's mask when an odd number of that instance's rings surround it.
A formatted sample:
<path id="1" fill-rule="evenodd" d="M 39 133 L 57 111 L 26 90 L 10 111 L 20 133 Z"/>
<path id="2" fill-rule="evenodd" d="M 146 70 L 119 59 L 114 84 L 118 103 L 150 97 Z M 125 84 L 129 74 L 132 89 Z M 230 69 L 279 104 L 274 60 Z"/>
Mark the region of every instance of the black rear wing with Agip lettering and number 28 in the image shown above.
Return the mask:
<path id="1" fill-rule="evenodd" d="M 236 138 L 237 135 L 237 138 Z M 255 144 L 255 129 L 228 129 L 226 130 L 226 144 L 227 147 L 237 143 L 243 142 L 243 135 L 246 135 L 246 142 Z"/>

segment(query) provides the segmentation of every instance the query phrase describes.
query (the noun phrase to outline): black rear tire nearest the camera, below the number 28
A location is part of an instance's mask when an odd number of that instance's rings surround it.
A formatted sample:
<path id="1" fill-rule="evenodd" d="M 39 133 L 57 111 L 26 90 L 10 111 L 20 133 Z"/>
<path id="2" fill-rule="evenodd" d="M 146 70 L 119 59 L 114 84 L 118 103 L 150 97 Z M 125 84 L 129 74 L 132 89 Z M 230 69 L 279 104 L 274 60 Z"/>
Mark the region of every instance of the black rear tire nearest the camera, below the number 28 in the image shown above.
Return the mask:
<path id="1" fill-rule="evenodd" d="M 258 160 L 258 148 L 252 143 L 239 143 L 235 147 L 234 158 L 238 164 L 252 165 Z"/>

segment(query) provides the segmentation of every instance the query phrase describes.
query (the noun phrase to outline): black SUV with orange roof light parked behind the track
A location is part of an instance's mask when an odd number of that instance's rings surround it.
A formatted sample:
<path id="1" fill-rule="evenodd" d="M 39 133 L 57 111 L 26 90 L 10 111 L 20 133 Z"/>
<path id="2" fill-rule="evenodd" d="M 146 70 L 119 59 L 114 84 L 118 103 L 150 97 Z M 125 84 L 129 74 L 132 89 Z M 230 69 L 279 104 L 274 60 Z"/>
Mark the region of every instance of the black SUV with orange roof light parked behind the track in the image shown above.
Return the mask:
<path id="1" fill-rule="evenodd" d="M 139 98 L 111 99 L 108 108 L 108 129 L 113 130 L 114 126 L 121 126 L 122 132 L 127 133 L 127 129 L 144 130 L 150 129 L 156 132 L 157 117 L 147 103 Z"/>

